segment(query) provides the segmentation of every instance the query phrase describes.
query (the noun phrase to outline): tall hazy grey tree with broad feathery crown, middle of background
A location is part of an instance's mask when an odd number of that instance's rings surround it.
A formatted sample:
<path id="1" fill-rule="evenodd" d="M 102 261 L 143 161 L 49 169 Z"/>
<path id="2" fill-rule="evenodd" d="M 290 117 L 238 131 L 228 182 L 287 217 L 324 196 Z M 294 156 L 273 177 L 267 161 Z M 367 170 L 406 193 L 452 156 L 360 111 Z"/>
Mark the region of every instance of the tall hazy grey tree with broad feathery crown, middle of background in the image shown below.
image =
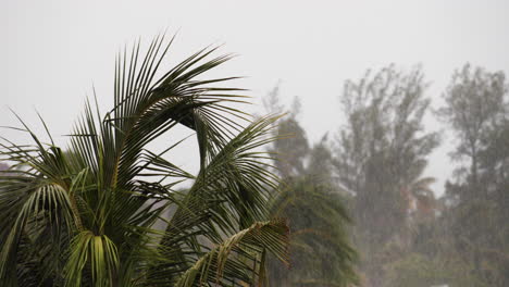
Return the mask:
<path id="1" fill-rule="evenodd" d="M 346 125 L 336 141 L 335 167 L 355 194 L 357 247 L 369 254 L 363 270 L 374 286 L 383 280 L 376 254 L 389 240 L 402 241 L 406 194 L 424 179 L 426 157 L 438 145 L 437 134 L 425 133 L 422 125 L 430 105 L 425 88 L 419 67 L 402 73 L 394 65 L 373 76 L 368 71 L 344 87 Z"/>

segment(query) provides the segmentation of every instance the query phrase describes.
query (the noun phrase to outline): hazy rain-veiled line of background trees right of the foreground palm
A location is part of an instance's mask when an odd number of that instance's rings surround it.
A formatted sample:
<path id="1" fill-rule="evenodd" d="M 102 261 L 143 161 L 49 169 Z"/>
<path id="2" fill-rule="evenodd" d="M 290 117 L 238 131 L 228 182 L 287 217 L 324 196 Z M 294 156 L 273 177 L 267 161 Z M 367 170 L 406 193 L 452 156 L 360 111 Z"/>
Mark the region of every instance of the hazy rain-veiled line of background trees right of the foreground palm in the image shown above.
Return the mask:
<path id="1" fill-rule="evenodd" d="M 325 249 L 298 245 L 294 248 L 298 254 L 293 254 L 298 258 L 297 271 L 280 283 L 306 286 L 305 277 L 311 283 L 308 286 L 320 286 L 318 279 L 327 280 L 328 285 L 322 282 L 324 286 L 342 286 L 338 278 L 352 278 L 345 271 L 355 257 L 334 249 L 335 244 L 345 242 L 344 235 L 334 232 L 342 228 L 350 230 L 358 250 L 360 260 L 353 270 L 361 286 L 509 286 L 509 96 L 505 75 L 465 64 L 455 72 L 443 93 L 443 107 L 434 112 L 427 86 L 419 66 L 404 73 L 389 65 L 375 73 L 368 71 L 359 80 L 347 80 L 338 113 L 345 124 L 334 139 L 324 137 L 313 148 L 296 116 L 281 125 L 281 130 L 296 135 L 273 145 L 286 155 L 280 163 L 281 173 L 290 178 L 288 185 L 296 197 L 312 190 L 297 211 L 288 208 L 290 226 L 326 229 L 334 242 Z M 273 98 L 271 95 L 268 102 L 274 105 Z M 294 107 L 289 110 L 296 114 Z M 424 128 L 426 116 L 444 123 L 451 132 L 448 140 L 457 145 L 450 152 L 450 166 L 457 167 L 440 198 L 435 197 L 431 188 L 435 178 L 425 169 L 444 136 L 437 132 L 439 127 Z M 318 190 L 328 190 L 322 192 L 325 200 L 311 200 Z M 351 228 L 344 228 L 346 216 L 331 215 L 332 210 L 342 214 L 340 205 L 330 208 L 333 202 L 347 204 Z M 334 223 L 323 227 L 323 217 L 334 219 Z M 323 234 L 313 236 L 312 240 L 320 240 Z M 296 240 L 295 245 L 301 239 L 296 236 Z M 320 260 L 327 266 L 318 263 Z"/>

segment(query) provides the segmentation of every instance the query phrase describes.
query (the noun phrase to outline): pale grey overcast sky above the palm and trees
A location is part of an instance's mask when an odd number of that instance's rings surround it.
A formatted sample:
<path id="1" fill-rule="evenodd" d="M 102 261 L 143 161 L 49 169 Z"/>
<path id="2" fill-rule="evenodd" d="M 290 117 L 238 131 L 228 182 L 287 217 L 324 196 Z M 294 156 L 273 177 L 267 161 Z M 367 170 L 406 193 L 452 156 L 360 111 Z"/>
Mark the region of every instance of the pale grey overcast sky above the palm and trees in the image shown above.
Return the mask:
<path id="1" fill-rule="evenodd" d="M 261 113 L 261 97 L 280 83 L 289 103 L 299 97 L 300 121 L 312 141 L 342 125 L 339 96 L 346 79 L 390 63 L 422 64 L 434 107 L 456 68 L 465 62 L 509 74 L 509 1 L 0 1 L 0 126 L 17 126 L 14 110 L 44 135 L 38 111 L 53 135 L 69 134 L 92 87 L 102 111 L 111 108 L 115 54 L 140 38 L 177 34 L 170 63 L 209 45 L 236 57 L 211 76 L 246 76 Z M 169 65 L 170 66 L 170 65 Z M 429 130 L 445 127 L 429 117 Z M 178 138 L 156 142 L 167 146 Z M 181 136 L 182 135 L 182 136 Z M 20 133 L 0 136 L 21 142 Z M 430 158 L 426 175 L 438 195 L 451 174 L 452 135 Z M 65 146 L 66 137 L 57 142 Z M 173 154 L 196 169 L 194 142 Z"/>

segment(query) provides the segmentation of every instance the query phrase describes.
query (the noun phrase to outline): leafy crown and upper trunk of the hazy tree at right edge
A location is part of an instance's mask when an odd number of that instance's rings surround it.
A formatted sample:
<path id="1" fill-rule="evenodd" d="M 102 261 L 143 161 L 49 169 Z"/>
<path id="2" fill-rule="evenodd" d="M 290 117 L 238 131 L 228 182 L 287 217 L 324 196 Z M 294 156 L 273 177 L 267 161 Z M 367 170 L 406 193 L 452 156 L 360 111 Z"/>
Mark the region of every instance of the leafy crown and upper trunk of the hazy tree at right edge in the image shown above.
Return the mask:
<path id="1" fill-rule="evenodd" d="M 479 186 L 480 157 L 489 141 L 489 135 L 506 121 L 508 103 L 505 78 L 501 72 L 489 73 L 465 64 L 452 75 L 444 93 L 446 105 L 438 110 L 439 117 L 452 127 L 458 138 L 452 159 L 470 161 L 467 174 L 472 187 L 470 197 L 487 195 L 487 190 Z"/>

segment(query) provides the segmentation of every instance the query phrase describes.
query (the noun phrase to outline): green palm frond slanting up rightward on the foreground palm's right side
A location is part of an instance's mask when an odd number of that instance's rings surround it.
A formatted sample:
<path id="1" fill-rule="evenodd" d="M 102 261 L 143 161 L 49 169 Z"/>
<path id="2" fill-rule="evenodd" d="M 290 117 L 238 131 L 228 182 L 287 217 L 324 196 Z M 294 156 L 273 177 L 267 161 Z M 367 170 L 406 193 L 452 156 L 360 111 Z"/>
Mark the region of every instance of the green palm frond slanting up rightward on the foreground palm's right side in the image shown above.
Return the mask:
<path id="1" fill-rule="evenodd" d="M 160 274 L 167 280 L 178 273 L 178 265 L 186 265 L 188 261 L 198 260 L 201 252 L 209 245 L 222 242 L 222 236 L 233 235 L 239 228 L 247 228 L 268 215 L 266 202 L 270 190 L 277 186 L 277 178 L 266 172 L 261 160 L 266 155 L 253 149 L 264 145 L 271 138 L 271 123 L 277 117 L 260 118 L 233 138 L 207 165 L 201 170 L 186 198 L 182 201 L 171 219 L 166 233 L 161 240 L 161 253 L 185 254 L 182 262 L 169 262 L 158 266 L 159 272 L 151 271 L 151 280 L 161 280 Z M 183 236 L 186 235 L 186 236 Z M 241 270 L 237 270 L 241 274 Z M 233 273 L 235 274 L 235 273 Z"/>

